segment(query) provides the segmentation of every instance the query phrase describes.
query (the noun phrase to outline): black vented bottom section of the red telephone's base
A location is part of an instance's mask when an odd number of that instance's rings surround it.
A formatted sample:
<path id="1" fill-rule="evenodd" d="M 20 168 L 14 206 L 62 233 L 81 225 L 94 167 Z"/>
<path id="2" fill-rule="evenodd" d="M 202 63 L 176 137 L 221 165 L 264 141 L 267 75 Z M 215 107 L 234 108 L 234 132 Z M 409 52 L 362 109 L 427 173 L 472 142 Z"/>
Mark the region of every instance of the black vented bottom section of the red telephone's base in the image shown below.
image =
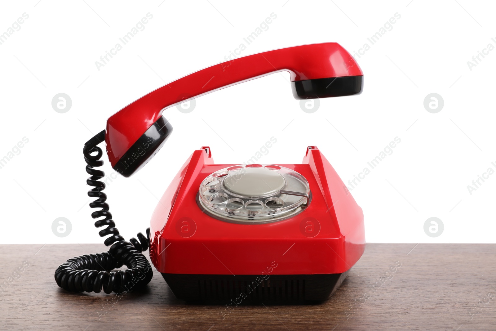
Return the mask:
<path id="1" fill-rule="evenodd" d="M 349 271 L 349 270 L 348 270 Z M 311 275 L 195 275 L 162 273 L 181 300 L 231 302 L 321 302 L 341 285 L 348 271 Z"/>

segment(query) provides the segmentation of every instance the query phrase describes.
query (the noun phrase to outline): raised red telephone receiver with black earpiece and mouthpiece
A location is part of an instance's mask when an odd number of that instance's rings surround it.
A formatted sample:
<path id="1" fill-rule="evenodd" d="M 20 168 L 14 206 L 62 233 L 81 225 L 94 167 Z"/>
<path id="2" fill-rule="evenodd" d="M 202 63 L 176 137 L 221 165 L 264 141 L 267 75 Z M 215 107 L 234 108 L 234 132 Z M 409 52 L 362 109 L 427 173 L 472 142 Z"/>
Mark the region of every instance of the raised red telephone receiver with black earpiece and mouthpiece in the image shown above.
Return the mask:
<path id="1" fill-rule="evenodd" d="M 274 72 L 289 71 L 295 99 L 360 94 L 363 72 L 338 43 L 310 44 L 248 55 L 201 69 L 127 105 L 107 121 L 112 168 L 124 177 L 141 169 L 172 132 L 164 109 Z"/>

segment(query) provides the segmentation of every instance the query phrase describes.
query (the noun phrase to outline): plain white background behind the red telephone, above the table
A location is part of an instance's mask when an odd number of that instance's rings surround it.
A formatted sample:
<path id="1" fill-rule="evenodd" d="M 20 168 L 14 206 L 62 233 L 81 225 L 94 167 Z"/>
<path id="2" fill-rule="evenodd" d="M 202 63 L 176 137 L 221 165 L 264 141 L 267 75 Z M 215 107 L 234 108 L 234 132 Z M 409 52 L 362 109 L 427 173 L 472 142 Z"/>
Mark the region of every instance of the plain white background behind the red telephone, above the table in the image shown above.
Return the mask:
<path id="1" fill-rule="evenodd" d="M 0 158 L 23 137 L 29 142 L 0 169 L 0 243 L 102 242 L 89 216 L 83 143 L 133 100 L 224 62 L 272 12 L 277 18 L 242 55 L 329 41 L 354 54 L 395 13 L 401 18 L 356 57 L 365 74 L 360 96 L 320 99 L 307 114 L 284 72 L 197 98 L 189 114 L 166 110 L 174 132 L 161 152 L 105 191 L 124 237 L 144 231 L 157 198 L 202 145 L 219 164 L 243 163 L 272 136 L 277 143 L 260 163 L 300 163 L 306 147 L 317 145 L 347 182 L 399 137 L 393 153 L 352 191 L 364 210 L 367 241 L 496 242 L 496 174 L 472 195 L 467 189 L 489 167 L 496 170 L 496 50 L 472 70 L 467 65 L 489 43 L 496 46 L 493 3 L 194 3 L 2 2 L 0 33 L 24 12 L 29 18 L 0 45 Z M 153 18 L 145 29 L 98 70 L 95 61 L 148 12 Z M 64 114 L 51 105 L 61 92 L 72 99 Z M 433 92 L 444 99 L 436 114 L 423 105 Z M 104 170 L 112 171 L 108 162 Z M 424 233 L 433 216 L 444 223 L 437 238 Z M 57 217 L 72 223 L 65 238 L 52 233 Z"/>

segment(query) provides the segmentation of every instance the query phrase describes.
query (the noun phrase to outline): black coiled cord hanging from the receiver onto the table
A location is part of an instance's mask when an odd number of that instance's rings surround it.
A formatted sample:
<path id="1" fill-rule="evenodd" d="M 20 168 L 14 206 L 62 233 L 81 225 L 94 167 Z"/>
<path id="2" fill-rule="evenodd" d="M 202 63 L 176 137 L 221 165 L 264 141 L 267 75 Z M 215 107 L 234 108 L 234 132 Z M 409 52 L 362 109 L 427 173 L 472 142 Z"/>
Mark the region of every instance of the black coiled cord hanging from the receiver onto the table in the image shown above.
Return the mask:
<path id="1" fill-rule="evenodd" d="M 57 285 L 68 291 L 95 292 L 103 291 L 107 294 L 112 292 L 124 293 L 132 288 L 141 287 L 150 282 L 153 271 L 142 251 L 148 249 L 150 243 L 150 228 L 146 229 L 146 237 L 140 232 L 138 239 L 131 238 L 128 241 L 119 234 L 116 223 L 109 211 L 109 204 L 105 202 L 107 196 L 103 193 L 105 183 L 99 181 L 105 176 L 101 170 L 93 169 L 103 165 L 102 149 L 97 147 L 105 140 L 105 130 L 95 135 L 84 144 L 83 154 L 86 161 L 86 172 L 91 175 L 86 180 L 93 189 L 88 191 L 88 196 L 97 198 L 90 202 L 91 208 L 101 208 L 91 213 L 91 217 L 99 218 L 95 222 L 97 228 L 107 226 L 99 232 L 100 237 L 111 235 L 105 239 L 105 246 L 111 246 L 108 252 L 86 254 L 67 260 L 55 271 Z M 91 155 L 92 153 L 96 155 Z M 128 269 L 112 271 L 121 266 Z"/>

